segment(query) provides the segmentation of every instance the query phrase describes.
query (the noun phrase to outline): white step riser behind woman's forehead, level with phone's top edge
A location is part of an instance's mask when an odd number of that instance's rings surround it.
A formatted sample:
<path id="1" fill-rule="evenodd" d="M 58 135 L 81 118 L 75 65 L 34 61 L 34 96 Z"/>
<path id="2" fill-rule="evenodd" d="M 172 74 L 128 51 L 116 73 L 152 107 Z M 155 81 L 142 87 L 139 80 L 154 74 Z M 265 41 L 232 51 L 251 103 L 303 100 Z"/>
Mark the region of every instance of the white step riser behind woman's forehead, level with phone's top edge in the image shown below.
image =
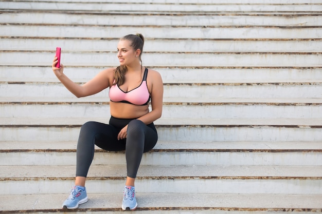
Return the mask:
<path id="1" fill-rule="evenodd" d="M 322 16 L 321 16 L 322 17 Z M 48 38 L 1 37 L 1 50 L 52 51 L 60 46 L 63 51 L 115 51 L 119 38 Z M 147 38 L 146 52 L 320 52 L 321 38 L 307 39 L 167 39 Z"/>

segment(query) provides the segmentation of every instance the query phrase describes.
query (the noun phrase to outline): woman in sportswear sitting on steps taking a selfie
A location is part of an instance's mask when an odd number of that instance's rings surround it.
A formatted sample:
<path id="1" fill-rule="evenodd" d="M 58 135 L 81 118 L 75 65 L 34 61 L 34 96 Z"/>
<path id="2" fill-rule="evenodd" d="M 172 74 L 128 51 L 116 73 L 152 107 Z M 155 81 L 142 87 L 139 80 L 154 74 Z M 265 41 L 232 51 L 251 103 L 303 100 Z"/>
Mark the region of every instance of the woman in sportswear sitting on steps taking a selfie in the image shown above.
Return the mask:
<path id="1" fill-rule="evenodd" d="M 120 66 L 101 71 L 89 82 L 78 85 L 63 73 L 64 66 L 52 70 L 62 84 L 78 98 L 110 88 L 109 124 L 87 122 L 80 130 L 77 144 L 75 186 L 63 203 L 63 208 L 76 209 L 87 202 L 85 181 L 94 157 L 94 145 L 108 151 L 126 150 L 127 179 L 123 191 L 122 209 L 134 210 L 135 178 L 142 154 L 151 150 L 157 142 L 153 122 L 162 115 L 163 82 L 160 74 L 142 67 L 144 45 L 142 34 L 130 34 L 120 38 L 117 57 Z M 151 99 L 152 110 L 149 111 Z"/>

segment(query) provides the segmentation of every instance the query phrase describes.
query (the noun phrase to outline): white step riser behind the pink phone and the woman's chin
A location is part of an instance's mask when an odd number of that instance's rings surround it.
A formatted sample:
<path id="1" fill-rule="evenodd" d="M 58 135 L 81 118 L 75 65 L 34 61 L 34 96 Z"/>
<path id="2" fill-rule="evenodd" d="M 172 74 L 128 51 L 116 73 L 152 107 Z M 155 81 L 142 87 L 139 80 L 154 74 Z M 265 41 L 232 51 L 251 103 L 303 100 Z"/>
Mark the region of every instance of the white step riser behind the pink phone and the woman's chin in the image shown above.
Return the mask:
<path id="1" fill-rule="evenodd" d="M 2 66 L 50 66 L 53 51 L 2 51 Z M 20 59 L 19 62 L 16 58 Z M 145 52 L 144 65 L 151 66 L 241 66 L 241 67 L 314 67 L 322 64 L 321 52 Z M 116 52 L 69 52 L 62 51 L 61 63 L 65 66 L 118 66 Z"/>

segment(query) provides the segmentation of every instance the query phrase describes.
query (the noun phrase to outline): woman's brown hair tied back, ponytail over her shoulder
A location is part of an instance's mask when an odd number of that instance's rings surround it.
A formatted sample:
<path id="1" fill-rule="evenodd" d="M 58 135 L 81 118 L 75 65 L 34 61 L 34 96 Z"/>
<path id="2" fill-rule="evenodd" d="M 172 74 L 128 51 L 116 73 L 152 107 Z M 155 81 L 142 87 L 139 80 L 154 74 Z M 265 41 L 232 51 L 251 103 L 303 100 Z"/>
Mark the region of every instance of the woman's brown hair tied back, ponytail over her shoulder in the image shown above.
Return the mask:
<path id="1" fill-rule="evenodd" d="M 129 34 L 129 35 L 123 36 L 122 38 L 120 38 L 120 40 L 128 40 L 131 42 L 130 46 L 134 50 L 137 50 L 137 49 L 141 50 L 140 55 L 138 57 L 139 57 L 139 60 L 141 62 L 141 66 L 142 66 L 141 55 L 143 52 L 144 36 L 140 33 L 137 33 L 136 35 Z M 124 83 L 124 81 L 125 81 L 124 75 L 126 74 L 127 70 L 128 70 L 127 66 L 125 66 L 125 65 L 120 65 L 115 69 L 115 72 L 114 72 L 115 82 L 113 85 L 116 85 L 116 84 L 122 85 Z"/>

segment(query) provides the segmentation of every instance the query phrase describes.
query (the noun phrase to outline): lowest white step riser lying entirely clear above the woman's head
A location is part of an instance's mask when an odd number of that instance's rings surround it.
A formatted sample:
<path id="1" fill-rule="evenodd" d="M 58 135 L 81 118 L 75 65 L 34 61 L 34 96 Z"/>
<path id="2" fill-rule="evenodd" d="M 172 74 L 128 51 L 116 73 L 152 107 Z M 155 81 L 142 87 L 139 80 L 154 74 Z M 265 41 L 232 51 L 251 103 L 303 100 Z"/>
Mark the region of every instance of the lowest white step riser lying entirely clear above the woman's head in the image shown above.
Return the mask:
<path id="1" fill-rule="evenodd" d="M 212 7 L 212 6 L 208 6 Z M 156 11 L 155 11 L 156 12 Z M 119 25 L 131 23 L 132 26 L 196 26 L 196 27 L 223 27 L 223 26 L 317 26 L 322 22 L 322 16 L 316 13 L 310 14 L 234 14 L 229 13 L 204 13 L 187 14 L 186 12 L 176 14 L 155 14 L 142 13 L 137 14 L 131 11 L 126 14 L 104 13 L 88 11 L 80 13 L 79 11 L 3 11 L 0 23 L 21 23 L 21 24 L 47 24 L 56 25 Z M 80 18 L 81 15 L 81 18 Z M 102 15 L 106 18 L 101 18 Z M 135 21 L 135 22 L 133 22 Z"/>

